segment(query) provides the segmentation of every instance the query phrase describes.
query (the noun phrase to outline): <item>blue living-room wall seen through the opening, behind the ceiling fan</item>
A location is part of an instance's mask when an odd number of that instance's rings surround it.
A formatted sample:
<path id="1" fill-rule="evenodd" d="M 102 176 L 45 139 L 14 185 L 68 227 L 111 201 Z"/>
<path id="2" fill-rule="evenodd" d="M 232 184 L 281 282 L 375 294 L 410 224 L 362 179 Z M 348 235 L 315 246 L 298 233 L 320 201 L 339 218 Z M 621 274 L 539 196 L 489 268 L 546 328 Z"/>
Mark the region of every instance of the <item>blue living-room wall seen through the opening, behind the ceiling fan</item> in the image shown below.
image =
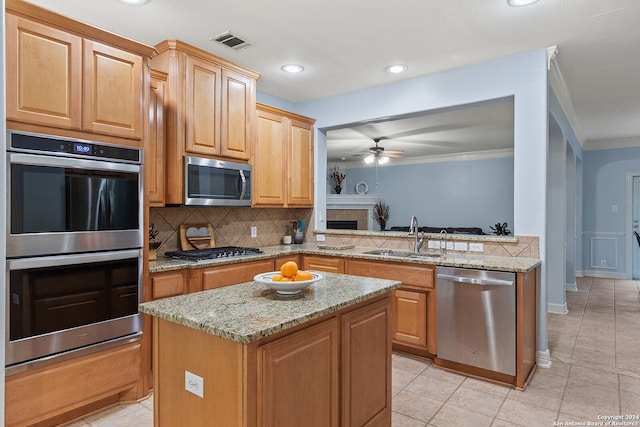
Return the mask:
<path id="1" fill-rule="evenodd" d="M 390 205 L 388 227 L 409 225 L 411 215 L 421 226 L 480 227 L 486 234 L 496 222 L 513 225 L 513 157 L 345 171 L 342 194 L 355 194 L 355 185 L 365 182 L 370 194 Z"/>

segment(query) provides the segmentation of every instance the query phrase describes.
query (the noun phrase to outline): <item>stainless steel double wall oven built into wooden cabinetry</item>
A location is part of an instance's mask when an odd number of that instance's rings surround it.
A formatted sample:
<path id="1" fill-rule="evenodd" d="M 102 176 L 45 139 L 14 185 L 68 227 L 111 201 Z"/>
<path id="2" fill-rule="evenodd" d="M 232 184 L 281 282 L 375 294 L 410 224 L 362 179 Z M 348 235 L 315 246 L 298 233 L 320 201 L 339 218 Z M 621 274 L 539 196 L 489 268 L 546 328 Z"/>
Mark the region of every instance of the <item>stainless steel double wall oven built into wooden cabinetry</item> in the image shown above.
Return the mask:
<path id="1" fill-rule="evenodd" d="M 139 339 L 142 150 L 7 132 L 6 366 Z"/>

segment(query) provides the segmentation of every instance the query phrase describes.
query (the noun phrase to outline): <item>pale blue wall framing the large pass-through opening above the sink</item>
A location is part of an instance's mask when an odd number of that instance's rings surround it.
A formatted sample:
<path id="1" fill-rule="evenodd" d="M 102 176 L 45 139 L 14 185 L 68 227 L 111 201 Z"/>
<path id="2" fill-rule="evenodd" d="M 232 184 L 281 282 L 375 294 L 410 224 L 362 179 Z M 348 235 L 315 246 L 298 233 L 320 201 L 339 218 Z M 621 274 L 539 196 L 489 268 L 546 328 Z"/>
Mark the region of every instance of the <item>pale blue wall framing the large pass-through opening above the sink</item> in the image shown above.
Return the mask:
<path id="1" fill-rule="evenodd" d="M 295 111 L 316 122 L 316 228 L 325 227 L 326 138 L 330 128 L 370 119 L 514 96 L 514 224 L 517 235 L 540 238 L 537 349 L 548 354 L 546 331 L 547 51 L 538 49 L 469 67 L 312 101 Z"/>

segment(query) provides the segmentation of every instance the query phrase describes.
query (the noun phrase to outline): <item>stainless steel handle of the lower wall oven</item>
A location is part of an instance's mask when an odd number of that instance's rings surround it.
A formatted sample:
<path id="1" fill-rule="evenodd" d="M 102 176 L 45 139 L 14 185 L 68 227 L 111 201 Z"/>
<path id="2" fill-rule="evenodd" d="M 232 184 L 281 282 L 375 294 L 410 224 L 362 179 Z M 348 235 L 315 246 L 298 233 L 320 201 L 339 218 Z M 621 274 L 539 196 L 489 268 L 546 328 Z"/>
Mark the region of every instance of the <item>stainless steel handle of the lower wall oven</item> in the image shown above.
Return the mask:
<path id="1" fill-rule="evenodd" d="M 142 249 L 127 249 L 113 252 L 93 252 L 71 255 L 52 255 L 32 258 L 8 259 L 9 270 L 27 270 L 30 268 L 61 267 L 65 265 L 89 264 L 92 262 L 118 261 L 121 259 L 142 258 Z"/>

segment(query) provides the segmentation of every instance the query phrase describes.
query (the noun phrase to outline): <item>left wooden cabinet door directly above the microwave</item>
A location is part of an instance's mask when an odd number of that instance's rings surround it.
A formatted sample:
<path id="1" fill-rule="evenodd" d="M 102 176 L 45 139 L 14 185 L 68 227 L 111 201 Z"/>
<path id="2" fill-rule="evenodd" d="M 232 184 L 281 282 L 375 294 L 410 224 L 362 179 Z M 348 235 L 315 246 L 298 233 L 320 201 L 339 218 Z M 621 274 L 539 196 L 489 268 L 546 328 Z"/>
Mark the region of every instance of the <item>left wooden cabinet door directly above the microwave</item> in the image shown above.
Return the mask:
<path id="1" fill-rule="evenodd" d="M 220 79 L 222 69 L 193 56 L 186 57 L 185 151 L 220 154 Z"/>

